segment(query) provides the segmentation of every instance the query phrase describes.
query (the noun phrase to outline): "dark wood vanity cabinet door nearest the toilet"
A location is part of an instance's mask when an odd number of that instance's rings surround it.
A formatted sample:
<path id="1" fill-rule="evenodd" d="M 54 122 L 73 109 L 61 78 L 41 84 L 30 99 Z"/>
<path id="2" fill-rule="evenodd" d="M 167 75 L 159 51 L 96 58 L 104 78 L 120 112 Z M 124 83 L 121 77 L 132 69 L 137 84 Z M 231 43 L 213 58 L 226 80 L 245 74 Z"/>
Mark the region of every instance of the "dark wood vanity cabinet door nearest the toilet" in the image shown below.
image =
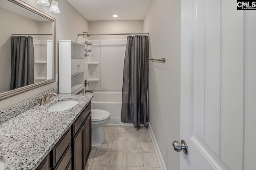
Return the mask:
<path id="1" fill-rule="evenodd" d="M 90 112 L 90 115 L 88 115 L 87 119 L 84 122 L 85 126 L 85 164 L 88 160 L 88 157 L 90 155 L 90 152 L 92 150 L 92 113 Z"/>

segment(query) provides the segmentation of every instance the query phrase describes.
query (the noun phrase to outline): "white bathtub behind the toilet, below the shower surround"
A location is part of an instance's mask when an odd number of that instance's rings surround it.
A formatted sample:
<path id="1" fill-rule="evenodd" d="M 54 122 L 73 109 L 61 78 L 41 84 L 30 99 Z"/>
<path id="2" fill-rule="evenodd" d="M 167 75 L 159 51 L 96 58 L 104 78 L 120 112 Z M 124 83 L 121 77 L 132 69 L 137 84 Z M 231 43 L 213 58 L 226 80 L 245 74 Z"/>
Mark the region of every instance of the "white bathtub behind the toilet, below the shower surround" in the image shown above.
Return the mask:
<path id="1" fill-rule="evenodd" d="M 92 93 L 92 109 L 102 109 L 110 113 L 110 125 L 131 125 L 121 122 L 122 92 L 94 92 Z"/>

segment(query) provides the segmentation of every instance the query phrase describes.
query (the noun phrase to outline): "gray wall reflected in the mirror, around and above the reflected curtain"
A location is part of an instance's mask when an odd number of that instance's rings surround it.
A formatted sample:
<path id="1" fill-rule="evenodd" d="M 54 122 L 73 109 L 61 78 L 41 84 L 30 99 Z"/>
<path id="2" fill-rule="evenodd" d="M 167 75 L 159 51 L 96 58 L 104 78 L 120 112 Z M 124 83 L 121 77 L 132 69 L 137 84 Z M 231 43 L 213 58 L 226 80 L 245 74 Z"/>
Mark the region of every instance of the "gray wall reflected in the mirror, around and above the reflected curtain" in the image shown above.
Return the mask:
<path id="1" fill-rule="evenodd" d="M 2 93 L 10 90 L 12 33 L 38 33 L 38 22 L 0 8 L 0 23 L 4 24 L 0 27 L 0 93 Z M 16 26 L 17 24 L 19 27 Z"/>

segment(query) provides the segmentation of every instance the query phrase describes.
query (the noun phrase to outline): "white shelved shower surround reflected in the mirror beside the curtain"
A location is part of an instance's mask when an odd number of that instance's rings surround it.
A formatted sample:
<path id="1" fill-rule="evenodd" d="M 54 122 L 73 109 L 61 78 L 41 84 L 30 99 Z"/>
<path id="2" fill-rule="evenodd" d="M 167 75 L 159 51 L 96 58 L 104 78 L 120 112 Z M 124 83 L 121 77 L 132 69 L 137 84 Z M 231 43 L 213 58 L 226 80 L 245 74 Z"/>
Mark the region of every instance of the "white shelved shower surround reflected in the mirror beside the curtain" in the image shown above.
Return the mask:
<path id="1" fill-rule="evenodd" d="M 33 39 L 33 45 L 34 83 L 38 83 L 52 78 L 52 40 Z"/>

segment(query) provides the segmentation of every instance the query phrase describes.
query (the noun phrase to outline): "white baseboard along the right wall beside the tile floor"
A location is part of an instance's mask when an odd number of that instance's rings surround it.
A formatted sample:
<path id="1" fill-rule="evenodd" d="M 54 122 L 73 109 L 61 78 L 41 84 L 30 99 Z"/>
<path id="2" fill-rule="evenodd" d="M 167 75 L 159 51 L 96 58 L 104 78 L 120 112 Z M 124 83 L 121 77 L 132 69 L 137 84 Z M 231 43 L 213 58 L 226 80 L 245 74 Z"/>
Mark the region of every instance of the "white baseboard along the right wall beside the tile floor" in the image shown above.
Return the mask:
<path id="1" fill-rule="evenodd" d="M 164 158 L 163 158 L 163 156 L 162 156 L 162 153 L 161 153 L 160 148 L 159 148 L 159 146 L 158 146 L 158 143 L 157 143 L 157 141 L 156 141 L 156 137 L 155 137 L 155 135 L 154 135 L 154 132 L 153 132 L 153 129 L 152 129 L 151 125 L 150 125 L 150 122 L 148 122 L 148 130 L 149 130 L 149 133 L 150 133 L 150 135 L 151 135 L 154 148 L 155 148 L 155 150 L 156 150 L 156 156 L 157 156 L 157 158 L 158 158 L 158 161 L 159 161 L 161 170 L 167 170 L 167 167 L 166 167 L 166 165 L 165 165 L 165 163 L 164 163 Z"/>

